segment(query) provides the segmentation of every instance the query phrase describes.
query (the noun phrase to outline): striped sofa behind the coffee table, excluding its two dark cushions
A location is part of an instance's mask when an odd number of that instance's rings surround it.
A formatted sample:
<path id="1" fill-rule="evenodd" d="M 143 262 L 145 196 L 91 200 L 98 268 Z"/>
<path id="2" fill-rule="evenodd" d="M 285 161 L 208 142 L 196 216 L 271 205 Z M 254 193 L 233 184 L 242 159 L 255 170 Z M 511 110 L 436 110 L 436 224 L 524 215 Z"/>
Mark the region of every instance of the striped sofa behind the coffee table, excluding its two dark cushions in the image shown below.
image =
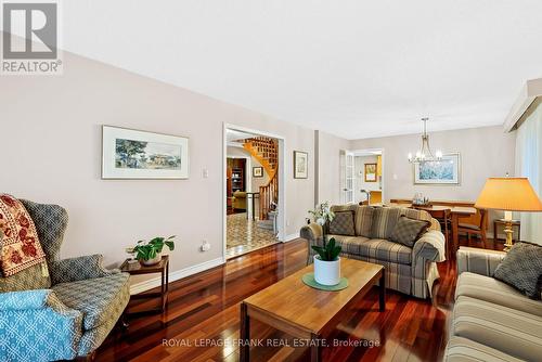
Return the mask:
<path id="1" fill-rule="evenodd" d="M 440 224 L 427 211 L 400 207 L 333 206 L 332 210 L 354 212 L 354 236 L 328 234 L 341 245 L 340 256 L 378 263 L 385 267 L 386 286 L 417 298 L 431 297 L 431 288 L 439 277 L 436 262 L 446 260 L 444 235 Z M 429 230 L 412 248 L 389 241 L 400 216 L 431 222 Z M 301 229 L 300 235 L 309 243 L 308 262 L 315 253 L 311 246 L 322 246 L 323 230 L 317 223 Z"/>

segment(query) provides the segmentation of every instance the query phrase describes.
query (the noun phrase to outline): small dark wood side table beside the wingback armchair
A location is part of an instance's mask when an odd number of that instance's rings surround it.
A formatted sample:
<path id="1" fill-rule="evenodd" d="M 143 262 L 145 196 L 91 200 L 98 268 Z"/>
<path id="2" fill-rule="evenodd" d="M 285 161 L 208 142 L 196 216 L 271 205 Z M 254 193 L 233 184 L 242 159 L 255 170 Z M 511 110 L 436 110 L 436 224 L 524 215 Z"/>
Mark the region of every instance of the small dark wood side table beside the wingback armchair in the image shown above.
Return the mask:
<path id="1" fill-rule="evenodd" d="M 141 293 L 130 296 L 130 299 L 144 299 L 144 298 L 160 298 L 160 306 L 154 309 L 141 310 L 130 312 L 127 310 L 125 314 L 133 315 L 139 313 L 150 313 L 150 312 L 164 312 L 166 308 L 166 302 L 168 300 L 168 292 L 169 292 L 169 256 L 165 255 L 162 257 L 160 262 L 155 266 L 145 267 L 141 263 L 129 264 L 128 259 L 122 262 L 120 266 L 120 271 L 130 273 L 130 275 L 141 275 L 141 274 L 153 274 L 160 273 L 162 275 L 162 284 L 160 292 L 154 293 Z"/>

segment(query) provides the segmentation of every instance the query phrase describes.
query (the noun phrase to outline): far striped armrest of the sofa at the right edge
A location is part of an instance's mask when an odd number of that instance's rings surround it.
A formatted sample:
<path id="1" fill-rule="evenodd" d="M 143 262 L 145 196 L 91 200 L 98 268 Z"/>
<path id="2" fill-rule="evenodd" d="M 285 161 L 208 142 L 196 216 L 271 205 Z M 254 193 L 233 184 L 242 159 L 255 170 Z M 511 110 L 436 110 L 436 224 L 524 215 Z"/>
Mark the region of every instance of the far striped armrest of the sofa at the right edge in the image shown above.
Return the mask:
<path id="1" fill-rule="evenodd" d="M 457 275 L 463 272 L 472 272 L 493 276 L 496 267 L 505 256 L 504 251 L 462 246 L 457 250 Z"/>

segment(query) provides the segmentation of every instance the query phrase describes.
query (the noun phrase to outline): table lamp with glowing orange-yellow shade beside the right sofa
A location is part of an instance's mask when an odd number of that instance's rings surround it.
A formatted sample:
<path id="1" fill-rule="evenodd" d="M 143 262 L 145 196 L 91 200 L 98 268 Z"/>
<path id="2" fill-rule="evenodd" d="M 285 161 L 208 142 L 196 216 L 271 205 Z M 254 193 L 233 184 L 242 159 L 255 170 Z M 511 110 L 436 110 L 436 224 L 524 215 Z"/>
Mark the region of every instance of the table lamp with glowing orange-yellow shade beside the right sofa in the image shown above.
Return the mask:
<path id="1" fill-rule="evenodd" d="M 504 250 L 512 247 L 512 211 L 542 211 L 542 202 L 527 178 L 489 178 L 475 204 L 476 208 L 504 210 Z M 496 235 L 493 237 L 496 238 Z"/>

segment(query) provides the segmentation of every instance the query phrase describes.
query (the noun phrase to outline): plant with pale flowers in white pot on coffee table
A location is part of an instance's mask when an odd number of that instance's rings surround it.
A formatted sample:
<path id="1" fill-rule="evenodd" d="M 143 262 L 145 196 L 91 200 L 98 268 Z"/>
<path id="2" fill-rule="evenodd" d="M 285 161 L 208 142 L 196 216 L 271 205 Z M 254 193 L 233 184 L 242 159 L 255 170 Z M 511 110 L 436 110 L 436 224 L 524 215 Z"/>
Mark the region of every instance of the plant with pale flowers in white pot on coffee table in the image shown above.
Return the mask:
<path id="1" fill-rule="evenodd" d="M 317 205 L 314 210 L 309 211 L 314 222 L 322 227 L 323 246 L 313 245 L 312 249 L 318 253 L 314 256 L 314 280 L 322 285 L 336 285 L 340 282 L 340 245 L 336 245 L 335 238 L 326 241 L 326 228 L 335 218 L 330 203 Z"/>

